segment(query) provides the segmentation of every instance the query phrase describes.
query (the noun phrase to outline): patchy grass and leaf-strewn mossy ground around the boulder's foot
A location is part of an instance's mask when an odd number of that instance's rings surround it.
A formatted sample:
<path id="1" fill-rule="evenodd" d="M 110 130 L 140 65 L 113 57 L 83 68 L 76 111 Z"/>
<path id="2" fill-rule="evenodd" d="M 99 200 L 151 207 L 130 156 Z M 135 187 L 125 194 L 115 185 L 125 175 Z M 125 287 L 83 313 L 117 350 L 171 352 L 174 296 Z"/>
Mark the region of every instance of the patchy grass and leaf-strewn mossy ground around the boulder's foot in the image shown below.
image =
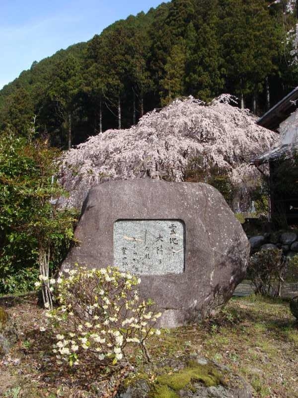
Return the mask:
<path id="1" fill-rule="evenodd" d="M 39 332 L 43 311 L 36 305 L 36 299 L 16 303 L 7 310 L 24 334 L 10 360 L 6 364 L 0 362 L 0 396 L 2 393 L 7 398 L 113 397 L 126 370 L 122 375 L 112 375 L 106 368 L 89 364 L 80 373 L 66 373 L 54 364 L 50 342 Z M 257 398 L 298 397 L 298 326 L 286 301 L 254 296 L 233 298 L 216 320 L 165 329 L 148 343 L 148 349 L 153 363 L 186 353 L 215 359 L 244 377 Z M 130 349 L 128 356 L 136 367 L 142 365 L 138 349 Z M 155 397 L 177 398 L 175 389 L 187 384 L 190 378 L 203 381 L 204 376 L 205 382 L 217 383 L 222 377 L 202 375 L 202 369 L 194 370 L 192 366 L 178 376 L 171 373 L 170 367 L 163 372 L 167 373 L 165 378 L 161 372 L 143 370 L 143 375 L 131 373 L 128 380 L 147 377 L 156 388 Z"/>

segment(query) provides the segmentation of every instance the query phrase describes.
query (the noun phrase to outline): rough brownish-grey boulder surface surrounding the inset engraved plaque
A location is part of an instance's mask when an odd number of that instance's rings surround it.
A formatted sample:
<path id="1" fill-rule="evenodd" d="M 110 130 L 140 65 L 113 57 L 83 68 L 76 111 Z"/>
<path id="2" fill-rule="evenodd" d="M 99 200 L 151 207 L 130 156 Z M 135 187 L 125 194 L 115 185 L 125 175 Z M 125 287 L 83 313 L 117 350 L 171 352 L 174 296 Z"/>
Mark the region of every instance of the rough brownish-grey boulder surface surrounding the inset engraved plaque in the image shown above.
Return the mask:
<path id="1" fill-rule="evenodd" d="M 141 275 L 140 294 L 163 312 L 160 326 L 195 323 L 213 314 L 246 273 L 250 245 L 213 187 L 202 183 L 114 181 L 92 188 L 75 230 L 80 241 L 63 267 L 113 265 L 113 230 L 119 219 L 176 219 L 185 224 L 183 273 Z"/>

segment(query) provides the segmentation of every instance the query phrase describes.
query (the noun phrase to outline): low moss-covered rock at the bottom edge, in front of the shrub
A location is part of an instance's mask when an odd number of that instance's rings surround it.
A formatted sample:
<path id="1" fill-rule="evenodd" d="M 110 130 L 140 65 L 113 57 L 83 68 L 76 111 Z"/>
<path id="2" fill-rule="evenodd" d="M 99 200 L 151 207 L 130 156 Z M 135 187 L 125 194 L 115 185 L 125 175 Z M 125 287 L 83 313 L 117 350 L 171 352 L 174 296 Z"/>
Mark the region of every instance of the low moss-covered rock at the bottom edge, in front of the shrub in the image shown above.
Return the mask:
<path id="1" fill-rule="evenodd" d="M 154 382 L 148 375 L 154 375 Z M 251 386 L 228 368 L 199 356 L 145 365 L 124 380 L 116 398 L 252 398 Z"/>

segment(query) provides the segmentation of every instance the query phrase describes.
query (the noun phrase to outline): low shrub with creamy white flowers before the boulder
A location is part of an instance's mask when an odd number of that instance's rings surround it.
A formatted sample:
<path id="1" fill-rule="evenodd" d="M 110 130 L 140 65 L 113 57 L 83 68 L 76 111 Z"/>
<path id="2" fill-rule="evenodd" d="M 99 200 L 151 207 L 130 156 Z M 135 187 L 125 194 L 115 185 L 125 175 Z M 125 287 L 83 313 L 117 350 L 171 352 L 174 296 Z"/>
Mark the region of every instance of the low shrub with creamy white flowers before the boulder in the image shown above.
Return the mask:
<path id="1" fill-rule="evenodd" d="M 161 313 L 150 309 L 150 300 L 140 302 L 136 290 L 140 282 L 111 267 L 77 267 L 60 273 L 55 287 L 60 306 L 46 312 L 47 328 L 56 339 L 56 358 L 70 366 L 91 360 L 115 365 L 125 355 L 126 345 L 134 343 L 149 359 L 145 341 L 160 334 L 152 327 Z"/>

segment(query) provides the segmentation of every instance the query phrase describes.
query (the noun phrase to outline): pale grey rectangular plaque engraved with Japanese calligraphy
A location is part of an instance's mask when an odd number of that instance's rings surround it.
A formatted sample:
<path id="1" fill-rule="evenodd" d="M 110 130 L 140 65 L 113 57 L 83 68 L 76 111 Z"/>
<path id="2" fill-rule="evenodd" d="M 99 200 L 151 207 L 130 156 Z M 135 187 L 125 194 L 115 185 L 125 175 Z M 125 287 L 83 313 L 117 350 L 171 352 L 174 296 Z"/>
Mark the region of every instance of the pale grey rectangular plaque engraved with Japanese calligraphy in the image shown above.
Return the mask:
<path id="1" fill-rule="evenodd" d="M 179 220 L 118 220 L 114 266 L 135 275 L 184 271 L 184 223 Z"/>

